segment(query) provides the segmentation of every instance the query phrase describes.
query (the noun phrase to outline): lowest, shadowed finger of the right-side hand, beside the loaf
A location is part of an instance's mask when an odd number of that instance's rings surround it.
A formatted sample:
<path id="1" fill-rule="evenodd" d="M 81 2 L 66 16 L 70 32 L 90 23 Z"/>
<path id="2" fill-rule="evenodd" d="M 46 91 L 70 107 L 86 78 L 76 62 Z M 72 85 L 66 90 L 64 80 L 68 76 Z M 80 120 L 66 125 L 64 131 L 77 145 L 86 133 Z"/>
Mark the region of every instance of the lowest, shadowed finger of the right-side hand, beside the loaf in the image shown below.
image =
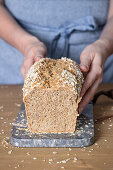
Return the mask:
<path id="1" fill-rule="evenodd" d="M 82 111 L 85 109 L 87 104 L 91 101 L 94 94 L 96 93 L 96 90 L 100 84 L 100 80 L 96 80 L 95 83 L 88 89 L 88 91 L 83 96 L 81 102 L 79 103 L 79 114 L 82 113 Z"/>

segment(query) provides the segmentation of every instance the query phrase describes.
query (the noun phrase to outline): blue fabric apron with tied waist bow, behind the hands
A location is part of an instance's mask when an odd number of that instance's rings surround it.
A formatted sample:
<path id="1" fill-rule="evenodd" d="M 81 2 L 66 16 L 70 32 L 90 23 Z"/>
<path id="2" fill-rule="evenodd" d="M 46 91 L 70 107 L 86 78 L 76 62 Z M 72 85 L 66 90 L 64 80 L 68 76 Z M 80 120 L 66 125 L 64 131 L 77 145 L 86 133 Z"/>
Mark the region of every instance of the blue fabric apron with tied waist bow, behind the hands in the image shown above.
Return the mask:
<path id="1" fill-rule="evenodd" d="M 109 0 L 5 0 L 17 22 L 47 46 L 47 57 L 80 62 L 82 50 L 97 40 L 106 23 Z M 22 84 L 22 54 L 0 39 L 0 84 Z M 113 56 L 103 82 L 113 82 Z M 107 75 L 107 76 L 106 76 Z"/>

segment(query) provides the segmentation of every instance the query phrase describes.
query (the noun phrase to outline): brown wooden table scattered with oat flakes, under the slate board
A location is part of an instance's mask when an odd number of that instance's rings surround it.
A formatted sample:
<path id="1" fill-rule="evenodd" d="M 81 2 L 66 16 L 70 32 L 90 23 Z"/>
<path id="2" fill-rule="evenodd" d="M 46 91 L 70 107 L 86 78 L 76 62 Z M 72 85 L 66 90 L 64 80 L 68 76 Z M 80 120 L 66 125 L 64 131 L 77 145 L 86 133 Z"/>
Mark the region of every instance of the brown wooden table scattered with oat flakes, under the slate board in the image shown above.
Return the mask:
<path id="1" fill-rule="evenodd" d="M 21 85 L 0 86 L 0 170 L 113 169 L 113 100 L 101 96 L 94 106 L 95 143 L 72 149 L 13 147 L 10 131 L 21 102 Z"/>

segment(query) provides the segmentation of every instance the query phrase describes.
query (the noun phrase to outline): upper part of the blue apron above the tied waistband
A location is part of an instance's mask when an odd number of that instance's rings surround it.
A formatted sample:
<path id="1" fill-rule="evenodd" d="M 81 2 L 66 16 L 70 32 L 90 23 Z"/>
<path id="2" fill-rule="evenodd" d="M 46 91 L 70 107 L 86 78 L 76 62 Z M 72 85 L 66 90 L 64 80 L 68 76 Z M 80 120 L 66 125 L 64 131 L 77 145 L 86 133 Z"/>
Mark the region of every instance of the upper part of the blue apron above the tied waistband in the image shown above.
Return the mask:
<path id="1" fill-rule="evenodd" d="M 109 0 L 5 0 L 5 5 L 20 22 L 58 28 L 85 16 L 105 24 Z"/>

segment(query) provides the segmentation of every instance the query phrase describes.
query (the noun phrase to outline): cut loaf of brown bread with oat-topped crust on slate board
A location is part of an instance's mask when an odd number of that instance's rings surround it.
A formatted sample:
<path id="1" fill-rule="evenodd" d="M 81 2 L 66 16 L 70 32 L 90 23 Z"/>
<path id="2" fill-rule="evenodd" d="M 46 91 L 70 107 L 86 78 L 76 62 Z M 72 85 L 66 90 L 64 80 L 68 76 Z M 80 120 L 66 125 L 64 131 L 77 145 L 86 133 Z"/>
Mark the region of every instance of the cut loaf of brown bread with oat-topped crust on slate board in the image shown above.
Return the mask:
<path id="1" fill-rule="evenodd" d="M 73 133 L 82 84 L 79 65 L 69 58 L 35 62 L 23 86 L 29 131 Z"/>

